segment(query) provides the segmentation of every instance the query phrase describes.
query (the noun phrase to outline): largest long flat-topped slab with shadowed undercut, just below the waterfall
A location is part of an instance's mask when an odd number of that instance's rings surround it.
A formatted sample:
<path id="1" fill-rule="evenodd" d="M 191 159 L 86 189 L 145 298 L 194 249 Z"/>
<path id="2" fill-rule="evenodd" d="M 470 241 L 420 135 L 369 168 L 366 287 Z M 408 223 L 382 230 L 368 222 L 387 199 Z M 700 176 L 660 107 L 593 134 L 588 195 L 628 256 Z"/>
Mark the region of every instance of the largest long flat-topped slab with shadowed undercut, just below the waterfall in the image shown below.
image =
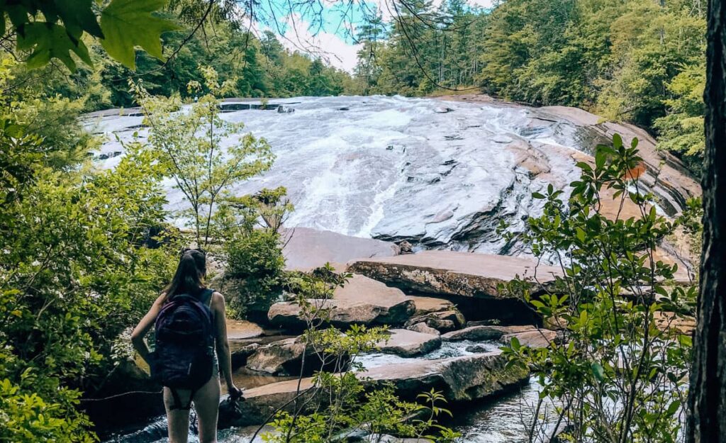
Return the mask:
<path id="1" fill-rule="evenodd" d="M 423 251 L 415 254 L 354 261 L 356 272 L 397 288 L 422 293 L 478 298 L 510 298 L 499 284 L 515 277 L 537 275 L 541 283 L 554 280 L 560 269 L 539 265 L 531 259 L 454 251 Z"/>

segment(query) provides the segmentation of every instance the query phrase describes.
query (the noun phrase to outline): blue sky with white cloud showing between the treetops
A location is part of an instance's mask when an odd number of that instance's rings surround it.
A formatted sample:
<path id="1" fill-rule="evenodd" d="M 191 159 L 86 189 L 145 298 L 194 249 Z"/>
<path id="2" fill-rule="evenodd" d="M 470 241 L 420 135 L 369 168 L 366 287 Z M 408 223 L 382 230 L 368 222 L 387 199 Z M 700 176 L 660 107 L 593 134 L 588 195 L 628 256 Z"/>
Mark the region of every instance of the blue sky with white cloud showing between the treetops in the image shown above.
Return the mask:
<path id="1" fill-rule="evenodd" d="M 262 0 L 264 12 L 260 23 L 253 28 L 258 33 L 269 29 L 287 49 L 309 52 L 335 68 L 352 73 L 360 45 L 355 44 L 351 36 L 355 34 L 356 25 L 363 22 L 364 11 L 376 8 L 387 22 L 393 11 L 391 0 L 353 1 L 351 4 L 348 0 L 318 0 L 313 7 L 295 7 L 290 14 L 290 0 Z M 444 0 L 433 0 L 434 6 L 441 1 Z M 488 8 L 492 7 L 492 0 L 469 0 L 469 4 Z"/>

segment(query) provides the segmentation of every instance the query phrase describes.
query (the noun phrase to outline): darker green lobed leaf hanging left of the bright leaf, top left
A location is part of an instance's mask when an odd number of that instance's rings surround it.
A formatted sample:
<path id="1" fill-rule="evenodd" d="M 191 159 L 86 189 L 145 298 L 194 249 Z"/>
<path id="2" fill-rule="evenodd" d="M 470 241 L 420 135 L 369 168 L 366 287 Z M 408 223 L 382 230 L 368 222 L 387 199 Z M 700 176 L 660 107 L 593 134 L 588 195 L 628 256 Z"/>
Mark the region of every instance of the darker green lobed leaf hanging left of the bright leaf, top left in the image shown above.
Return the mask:
<path id="1" fill-rule="evenodd" d="M 60 25 L 46 22 L 28 23 L 17 33 L 17 49 L 30 51 L 26 60 L 29 69 L 41 68 L 48 64 L 52 58 L 63 62 L 70 70 L 76 70 L 76 62 L 70 57 L 70 52 L 92 66 L 89 50 L 79 38 L 73 38 Z"/>

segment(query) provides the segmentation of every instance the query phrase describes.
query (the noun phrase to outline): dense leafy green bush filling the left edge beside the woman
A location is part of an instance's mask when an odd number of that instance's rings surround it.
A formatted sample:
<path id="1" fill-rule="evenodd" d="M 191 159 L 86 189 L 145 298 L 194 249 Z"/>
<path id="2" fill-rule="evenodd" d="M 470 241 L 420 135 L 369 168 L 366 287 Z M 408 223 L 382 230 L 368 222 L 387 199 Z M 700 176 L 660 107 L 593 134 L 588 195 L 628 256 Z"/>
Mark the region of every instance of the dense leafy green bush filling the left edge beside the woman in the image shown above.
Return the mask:
<path id="1" fill-rule="evenodd" d="M 8 127 L 0 146 L 22 168 L 2 177 L 0 440 L 90 442 L 81 392 L 102 389 L 115 338 L 171 275 L 171 246 L 142 246 L 166 214 L 158 171 L 133 151 L 113 171 L 59 171 Z"/>

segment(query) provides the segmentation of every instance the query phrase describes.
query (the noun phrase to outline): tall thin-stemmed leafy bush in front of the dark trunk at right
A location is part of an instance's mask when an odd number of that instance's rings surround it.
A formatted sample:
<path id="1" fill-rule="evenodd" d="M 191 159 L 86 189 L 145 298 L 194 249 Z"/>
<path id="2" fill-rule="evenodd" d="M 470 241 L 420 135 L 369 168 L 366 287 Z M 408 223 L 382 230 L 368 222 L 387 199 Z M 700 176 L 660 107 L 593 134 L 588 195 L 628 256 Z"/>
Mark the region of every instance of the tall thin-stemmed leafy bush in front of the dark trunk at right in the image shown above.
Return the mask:
<path id="1" fill-rule="evenodd" d="M 558 431 L 567 442 L 683 439 L 697 291 L 674 284 L 677 265 L 658 259 L 658 245 L 680 221 L 658 215 L 633 172 L 641 162 L 637 139 L 626 147 L 616 135 L 612 146 L 597 147 L 594 165 L 578 163 L 582 175 L 567 200 L 552 186 L 534 195 L 545 200 L 544 214 L 529 220 L 526 242 L 540 259 L 554 257 L 563 275 L 537 285 L 541 297 L 530 296 L 531 281 L 510 290 L 563 336 L 542 349 L 516 340 L 504 348 L 542 388 L 529 417 L 531 442 Z"/>

